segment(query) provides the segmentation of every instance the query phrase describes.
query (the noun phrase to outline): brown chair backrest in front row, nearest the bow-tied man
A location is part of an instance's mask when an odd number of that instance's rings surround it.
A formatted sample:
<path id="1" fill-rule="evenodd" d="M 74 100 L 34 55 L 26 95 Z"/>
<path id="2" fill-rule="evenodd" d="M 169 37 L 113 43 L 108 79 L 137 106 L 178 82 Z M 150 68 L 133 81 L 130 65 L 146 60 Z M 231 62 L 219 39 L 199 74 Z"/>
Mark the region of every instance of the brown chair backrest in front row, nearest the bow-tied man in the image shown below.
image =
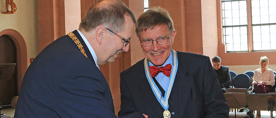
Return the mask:
<path id="1" fill-rule="evenodd" d="M 224 97 L 229 108 L 243 108 L 246 105 L 245 93 L 226 92 Z"/>

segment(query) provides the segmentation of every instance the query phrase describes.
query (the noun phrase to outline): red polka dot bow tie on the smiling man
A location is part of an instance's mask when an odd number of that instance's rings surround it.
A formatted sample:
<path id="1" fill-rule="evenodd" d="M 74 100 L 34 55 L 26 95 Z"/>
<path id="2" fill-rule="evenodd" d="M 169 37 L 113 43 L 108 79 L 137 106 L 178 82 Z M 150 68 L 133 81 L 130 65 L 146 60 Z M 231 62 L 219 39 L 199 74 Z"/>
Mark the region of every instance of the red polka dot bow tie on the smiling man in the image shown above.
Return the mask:
<path id="1" fill-rule="evenodd" d="M 149 66 L 149 71 L 151 73 L 151 77 L 156 77 L 160 72 L 162 72 L 167 77 L 170 77 L 172 71 L 172 65 L 167 64 L 164 67 L 157 67 L 157 66 Z"/>

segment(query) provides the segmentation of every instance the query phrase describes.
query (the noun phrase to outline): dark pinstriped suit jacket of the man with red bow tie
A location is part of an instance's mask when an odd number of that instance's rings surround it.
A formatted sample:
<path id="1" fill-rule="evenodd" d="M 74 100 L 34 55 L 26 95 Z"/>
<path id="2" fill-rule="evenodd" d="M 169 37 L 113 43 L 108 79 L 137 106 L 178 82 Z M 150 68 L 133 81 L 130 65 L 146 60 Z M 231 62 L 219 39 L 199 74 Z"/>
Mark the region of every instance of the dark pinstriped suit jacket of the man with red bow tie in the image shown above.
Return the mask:
<path id="1" fill-rule="evenodd" d="M 178 70 L 168 100 L 171 118 L 228 118 L 229 108 L 209 57 L 179 51 L 177 54 Z M 164 109 L 148 83 L 143 61 L 120 74 L 118 115 L 141 112 L 149 118 L 163 118 Z"/>

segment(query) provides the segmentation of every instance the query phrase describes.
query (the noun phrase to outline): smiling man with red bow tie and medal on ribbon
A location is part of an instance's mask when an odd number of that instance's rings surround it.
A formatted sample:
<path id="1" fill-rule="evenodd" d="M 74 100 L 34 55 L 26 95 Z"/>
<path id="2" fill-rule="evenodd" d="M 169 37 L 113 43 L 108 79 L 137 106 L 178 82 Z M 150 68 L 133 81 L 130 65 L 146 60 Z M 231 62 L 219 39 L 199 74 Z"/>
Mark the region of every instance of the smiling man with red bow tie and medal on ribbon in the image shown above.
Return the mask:
<path id="1" fill-rule="evenodd" d="M 228 118 L 208 56 L 171 49 L 177 33 L 160 7 L 142 13 L 136 34 L 146 58 L 120 74 L 121 110 L 151 118 Z"/>

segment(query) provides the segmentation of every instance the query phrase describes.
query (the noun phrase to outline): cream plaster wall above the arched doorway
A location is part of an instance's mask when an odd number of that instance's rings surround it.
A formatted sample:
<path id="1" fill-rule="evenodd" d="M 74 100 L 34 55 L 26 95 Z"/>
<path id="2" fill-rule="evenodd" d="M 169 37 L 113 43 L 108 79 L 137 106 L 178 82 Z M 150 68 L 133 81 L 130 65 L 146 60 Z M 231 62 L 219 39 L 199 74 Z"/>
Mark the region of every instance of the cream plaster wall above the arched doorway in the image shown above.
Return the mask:
<path id="1" fill-rule="evenodd" d="M 27 65 L 30 58 L 38 54 L 37 46 L 37 1 L 16 0 L 17 10 L 14 14 L 0 14 L 0 32 L 4 29 L 14 29 L 24 38 L 27 46 Z M 6 11 L 5 0 L 0 1 L 1 13 Z"/>

